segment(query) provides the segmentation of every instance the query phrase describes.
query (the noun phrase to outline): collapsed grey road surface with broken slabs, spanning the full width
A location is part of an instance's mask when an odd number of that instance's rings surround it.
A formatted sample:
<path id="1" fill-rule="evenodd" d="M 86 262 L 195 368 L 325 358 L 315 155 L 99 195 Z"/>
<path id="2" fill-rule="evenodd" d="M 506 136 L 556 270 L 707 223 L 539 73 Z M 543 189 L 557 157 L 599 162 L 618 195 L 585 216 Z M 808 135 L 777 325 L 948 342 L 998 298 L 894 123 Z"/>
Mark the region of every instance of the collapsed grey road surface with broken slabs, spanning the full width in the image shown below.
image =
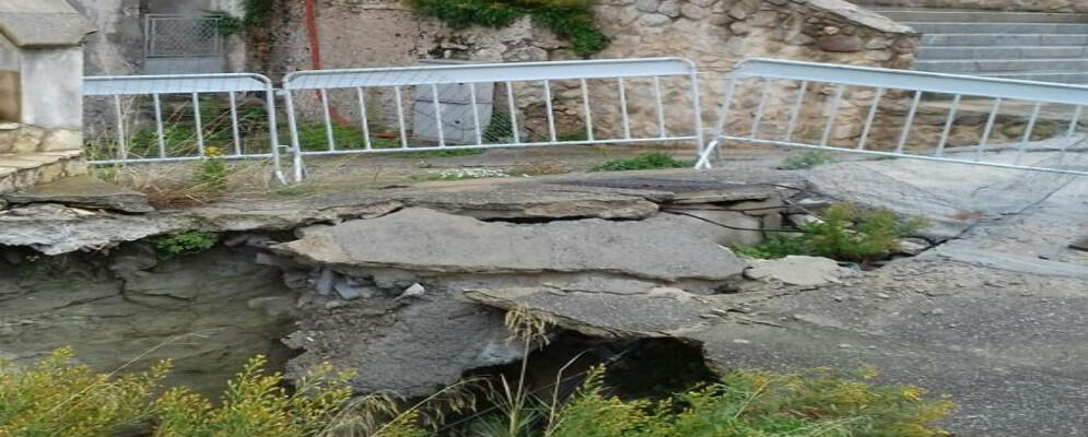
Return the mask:
<path id="1" fill-rule="evenodd" d="M 936 246 L 867 272 L 725 249 L 814 192 L 926 216 Z M 97 199 L 0 212 L 4 356 L 75 343 L 108 368 L 210 329 L 149 358 L 211 380 L 283 343 L 291 373 L 332 361 L 362 370 L 360 390 L 422 394 L 519 359 L 502 324 L 517 306 L 587 335 L 693 342 L 716 369 L 874 365 L 950 394 L 960 436 L 1088 434 L 1088 253 L 1068 247 L 1088 232 L 1088 178 L 899 160 L 183 211 Z M 220 245 L 161 259 L 145 243 L 194 229 Z"/>

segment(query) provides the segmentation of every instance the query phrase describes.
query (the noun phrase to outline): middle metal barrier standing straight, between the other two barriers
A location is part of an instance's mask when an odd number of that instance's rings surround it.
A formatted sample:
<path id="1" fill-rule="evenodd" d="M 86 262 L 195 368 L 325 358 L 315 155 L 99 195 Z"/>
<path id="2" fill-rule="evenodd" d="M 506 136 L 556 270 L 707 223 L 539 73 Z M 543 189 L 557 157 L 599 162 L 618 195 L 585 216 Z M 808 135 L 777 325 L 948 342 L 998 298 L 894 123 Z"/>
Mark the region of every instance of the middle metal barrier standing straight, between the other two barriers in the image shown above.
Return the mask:
<path id="1" fill-rule="evenodd" d="M 680 58 L 300 71 L 283 94 L 296 178 L 307 155 L 703 143 Z"/>

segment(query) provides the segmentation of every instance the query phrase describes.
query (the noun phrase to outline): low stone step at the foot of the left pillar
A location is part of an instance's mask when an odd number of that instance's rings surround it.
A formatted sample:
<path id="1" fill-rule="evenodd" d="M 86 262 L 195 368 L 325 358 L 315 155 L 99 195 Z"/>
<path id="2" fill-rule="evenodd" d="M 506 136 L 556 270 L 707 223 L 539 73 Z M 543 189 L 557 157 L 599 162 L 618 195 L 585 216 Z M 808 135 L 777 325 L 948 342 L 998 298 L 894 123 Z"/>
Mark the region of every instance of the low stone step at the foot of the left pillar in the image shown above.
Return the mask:
<path id="1" fill-rule="evenodd" d="M 0 193 L 86 174 L 83 151 L 0 153 Z"/>

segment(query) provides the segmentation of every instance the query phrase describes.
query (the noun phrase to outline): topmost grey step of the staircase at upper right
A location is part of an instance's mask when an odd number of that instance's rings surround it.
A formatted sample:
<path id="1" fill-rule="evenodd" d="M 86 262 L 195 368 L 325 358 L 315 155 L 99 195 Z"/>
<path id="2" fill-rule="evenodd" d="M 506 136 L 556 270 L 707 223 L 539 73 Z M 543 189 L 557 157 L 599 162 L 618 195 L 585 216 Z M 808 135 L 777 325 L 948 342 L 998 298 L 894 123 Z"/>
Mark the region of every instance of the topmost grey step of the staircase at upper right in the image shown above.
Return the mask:
<path id="1" fill-rule="evenodd" d="M 873 8 L 870 11 L 901 23 L 1088 23 L 1088 14 L 1080 13 L 954 11 L 916 8 Z"/>

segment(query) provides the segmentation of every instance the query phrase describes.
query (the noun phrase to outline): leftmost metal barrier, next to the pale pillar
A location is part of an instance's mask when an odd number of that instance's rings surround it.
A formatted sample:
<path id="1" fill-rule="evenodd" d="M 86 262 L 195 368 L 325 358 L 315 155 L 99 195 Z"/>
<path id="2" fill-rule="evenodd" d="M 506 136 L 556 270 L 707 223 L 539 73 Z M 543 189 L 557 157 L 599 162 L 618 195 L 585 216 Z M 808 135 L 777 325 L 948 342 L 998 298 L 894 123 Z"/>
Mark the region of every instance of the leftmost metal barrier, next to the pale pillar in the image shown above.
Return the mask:
<path id="1" fill-rule="evenodd" d="M 274 90 L 264 75 L 92 76 L 83 95 L 85 110 L 112 113 L 85 123 L 91 164 L 271 158 L 285 181 Z"/>

